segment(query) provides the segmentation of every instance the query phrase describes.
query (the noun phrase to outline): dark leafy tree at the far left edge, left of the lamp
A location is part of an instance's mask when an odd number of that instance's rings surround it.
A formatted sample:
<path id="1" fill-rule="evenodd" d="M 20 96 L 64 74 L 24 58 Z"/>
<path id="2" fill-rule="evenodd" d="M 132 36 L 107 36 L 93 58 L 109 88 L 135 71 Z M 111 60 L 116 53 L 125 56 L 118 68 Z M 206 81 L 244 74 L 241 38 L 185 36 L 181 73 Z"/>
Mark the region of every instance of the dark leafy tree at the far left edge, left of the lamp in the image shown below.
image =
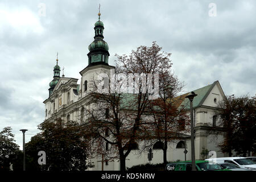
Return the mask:
<path id="1" fill-rule="evenodd" d="M 14 134 L 11 127 L 5 127 L 0 132 L 0 170 L 10 170 L 10 163 L 18 157 L 19 146 L 14 143 Z"/>

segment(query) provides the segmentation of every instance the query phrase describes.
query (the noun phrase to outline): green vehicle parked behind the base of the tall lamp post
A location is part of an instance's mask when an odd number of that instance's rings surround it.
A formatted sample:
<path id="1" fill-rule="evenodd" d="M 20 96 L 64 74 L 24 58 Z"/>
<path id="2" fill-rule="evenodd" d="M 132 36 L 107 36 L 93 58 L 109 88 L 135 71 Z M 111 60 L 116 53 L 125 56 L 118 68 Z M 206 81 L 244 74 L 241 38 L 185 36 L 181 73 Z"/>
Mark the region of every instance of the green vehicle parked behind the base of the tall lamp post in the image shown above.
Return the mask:
<path id="1" fill-rule="evenodd" d="M 184 162 L 177 162 L 174 171 L 191 171 L 192 164 L 191 160 Z M 224 169 L 220 165 L 209 162 L 207 160 L 196 160 L 197 171 L 231 171 L 230 169 Z"/>

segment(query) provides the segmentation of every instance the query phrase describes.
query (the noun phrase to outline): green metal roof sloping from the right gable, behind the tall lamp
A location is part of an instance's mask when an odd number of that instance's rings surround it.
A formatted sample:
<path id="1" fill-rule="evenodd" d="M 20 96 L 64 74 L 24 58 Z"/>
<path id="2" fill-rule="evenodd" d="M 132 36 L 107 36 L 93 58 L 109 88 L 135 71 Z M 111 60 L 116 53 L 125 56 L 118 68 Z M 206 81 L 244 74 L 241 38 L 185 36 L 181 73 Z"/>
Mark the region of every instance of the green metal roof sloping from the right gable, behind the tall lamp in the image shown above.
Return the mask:
<path id="1" fill-rule="evenodd" d="M 213 89 L 213 86 L 217 83 L 217 81 L 214 81 L 213 84 L 210 84 L 210 85 L 207 85 L 207 86 L 204 86 L 203 88 L 200 88 L 200 89 L 196 89 L 196 90 L 193 90 L 193 92 L 195 92 L 197 94 L 196 97 L 194 97 L 194 100 L 193 100 L 193 107 L 199 107 L 203 104 L 203 102 L 205 101 L 205 99 L 207 98 L 210 90 Z M 189 92 L 190 93 L 190 92 Z M 189 93 L 186 93 L 184 95 L 188 95 Z M 181 103 L 181 105 L 184 105 L 185 106 L 185 109 L 189 109 L 190 108 L 190 104 L 189 104 L 189 100 L 188 98 L 185 98 L 183 100 L 183 102 Z"/>

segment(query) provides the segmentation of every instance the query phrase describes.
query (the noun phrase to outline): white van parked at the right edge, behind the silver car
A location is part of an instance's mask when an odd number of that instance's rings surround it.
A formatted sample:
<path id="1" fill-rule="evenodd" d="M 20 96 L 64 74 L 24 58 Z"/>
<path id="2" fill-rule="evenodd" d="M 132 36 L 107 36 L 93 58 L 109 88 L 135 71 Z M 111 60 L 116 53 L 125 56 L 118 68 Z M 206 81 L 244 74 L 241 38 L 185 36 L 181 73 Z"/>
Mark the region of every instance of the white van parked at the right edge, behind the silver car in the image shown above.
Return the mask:
<path id="1" fill-rule="evenodd" d="M 246 169 L 251 169 L 253 171 L 256 171 L 256 163 L 247 158 L 230 157 L 230 158 L 210 158 L 205 160 L 213 161 L 217 164 L 232 163 L 232 164 L 236 164 L 237 166 L 240 166 L 241 168 L 246 168 Z"/>

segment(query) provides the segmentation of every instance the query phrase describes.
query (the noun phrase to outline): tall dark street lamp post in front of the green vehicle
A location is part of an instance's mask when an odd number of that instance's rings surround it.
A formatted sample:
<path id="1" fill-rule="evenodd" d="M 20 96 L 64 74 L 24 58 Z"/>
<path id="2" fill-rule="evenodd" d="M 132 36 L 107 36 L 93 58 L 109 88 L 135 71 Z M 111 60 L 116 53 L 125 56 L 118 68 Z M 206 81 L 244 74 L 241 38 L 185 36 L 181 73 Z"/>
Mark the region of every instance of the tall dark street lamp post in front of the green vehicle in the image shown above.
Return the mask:
<path id="1" fill-rule="evenodd" d="M 196 97 L 195 92 L 191 92 L 185 98 L 188 98 L 190 101 L 190 119 L 191 119 L 191 163 L 192 171 L 196 171 L 196 158 L 195 158 L 195 138 L 194 138 L 194 122 L 193 122 L 193 98 Z"/>

